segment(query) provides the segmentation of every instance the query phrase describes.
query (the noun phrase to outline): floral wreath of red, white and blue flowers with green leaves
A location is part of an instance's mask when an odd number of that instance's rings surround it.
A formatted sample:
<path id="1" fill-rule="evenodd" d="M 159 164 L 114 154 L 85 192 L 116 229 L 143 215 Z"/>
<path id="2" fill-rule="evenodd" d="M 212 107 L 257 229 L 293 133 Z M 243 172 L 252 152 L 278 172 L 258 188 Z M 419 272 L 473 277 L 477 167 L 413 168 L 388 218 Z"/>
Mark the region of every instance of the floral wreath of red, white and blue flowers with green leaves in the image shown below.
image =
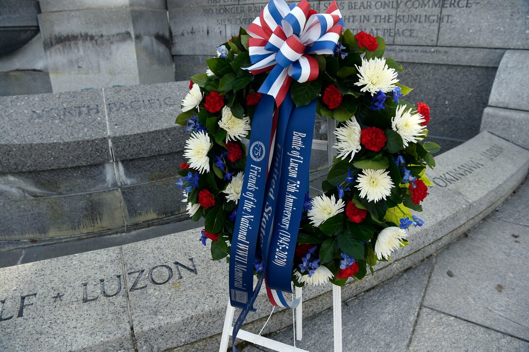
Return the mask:
<path id="1" fill-rule="evenodd" d="M 252 65 L 249 38 L 241 28 L 217 47 L 206 73 L 191 77 L 176 119 L 191 132 L 176 184 L 191 219 L 205 218 L 200 241 L 206 246 L 211 240 L 213 260 L 230 254 L 247 160 L 242 141 L 250 138 L 258 89 L 268 74 L 243 69 Z M 409 228 L 424 224 L 411 210 L 422 211 L 433 185 L 426 166 L 435 166 L 432 153 L 440 147 L 421 144 L 430 109 L 402 99 L 412 89 L 398 83 L 402 66 L 385 58 L 384 49 L 380 37 L 345 30 L 333 55 L 315 56 L 318 77 L 291 85 L 297 106 L 317 98 L 317 113 L 338 121 L 332 146 L 338 156 L 322 183 L 324 194 L 305 196 L 292 271 L 296 286 L 361 279 L 368 267 L 373 273 L 377 261 L 408 245 Z M 261 272 L 257 254 L 254 275 Z"/>

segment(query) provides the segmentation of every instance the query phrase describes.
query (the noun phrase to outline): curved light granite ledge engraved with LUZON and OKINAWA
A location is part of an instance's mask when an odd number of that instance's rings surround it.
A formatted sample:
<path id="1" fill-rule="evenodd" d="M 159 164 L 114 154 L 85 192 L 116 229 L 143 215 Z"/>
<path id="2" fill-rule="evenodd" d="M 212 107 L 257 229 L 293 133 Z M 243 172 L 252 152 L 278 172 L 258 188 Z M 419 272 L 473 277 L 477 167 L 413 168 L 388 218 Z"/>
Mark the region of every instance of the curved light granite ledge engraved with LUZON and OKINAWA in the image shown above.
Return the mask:
<path id="1" fill-rule="evenodd" d="M 482 132 L 436 161 L 428 174 L 435 186 L 421 213 L 425 225 L 411 230 L 411 245 L 377 265 L 375 275 L 345 285 L 344 300 L 419 263 L 493 211 L 525 178 L 529 151 Z M 202 247 L 198 238 L 196 229 L 0 269 L 7 283 L 0 287 L 4 317 L 13 315 L 0 322 L 5 331 L 0 349 L 31 350 L 38 344 L 45 350 L 116 350 L 130 349 L 134 341 L 145 351 L 216 350 L 227 303 L 227 265 L 211 261 L 209 246 Z M 304 314 L 330 308 L 330 291 L 331 285 L 305 288 Z M 20 306 L 23 317 L 15 318 Z M 266 294 L 256 307 L 245 327 L 252 332 L 270 312 Z M 264 332 L 284 328 L 291 319 L 291 312 L 279 310 Z M 62 329 L 66 324 L 68 330 Z"/>

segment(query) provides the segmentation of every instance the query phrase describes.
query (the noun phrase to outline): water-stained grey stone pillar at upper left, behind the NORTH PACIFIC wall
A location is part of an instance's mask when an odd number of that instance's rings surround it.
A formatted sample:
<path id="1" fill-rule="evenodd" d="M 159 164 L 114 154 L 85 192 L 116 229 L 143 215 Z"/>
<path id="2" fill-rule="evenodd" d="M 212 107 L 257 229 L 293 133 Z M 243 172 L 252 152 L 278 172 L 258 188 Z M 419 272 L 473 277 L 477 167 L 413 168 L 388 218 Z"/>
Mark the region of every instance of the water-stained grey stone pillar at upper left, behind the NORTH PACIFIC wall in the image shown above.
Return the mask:
<path id="1" fill-rule="evenodd" d="M 53 92 L 174 81 L 165 0 L 41 0 Z"/>

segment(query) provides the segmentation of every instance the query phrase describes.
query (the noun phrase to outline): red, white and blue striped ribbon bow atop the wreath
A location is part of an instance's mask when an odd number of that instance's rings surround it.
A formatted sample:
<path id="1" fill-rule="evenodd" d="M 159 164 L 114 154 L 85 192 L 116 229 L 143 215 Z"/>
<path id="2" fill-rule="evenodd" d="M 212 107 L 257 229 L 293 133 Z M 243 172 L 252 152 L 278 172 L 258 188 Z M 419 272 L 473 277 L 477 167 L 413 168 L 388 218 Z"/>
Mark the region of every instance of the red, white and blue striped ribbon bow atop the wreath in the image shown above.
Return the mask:
<path id="1" fill-rule="evenodd" d="M 332 54 L 342 33 L 342 14 L 335 1 L 324 14 L 307 20 L 308 11 L 306 0 L 290 7 L 284 0 L 271 0 L 247 29 L 253 65 L 245 69 L 254 75 L 272 69 L 259 93 L 273 96 L 277 106 L 292 79 L 304 83 L 318 77 L 318 62 L 312 55 Z"/>

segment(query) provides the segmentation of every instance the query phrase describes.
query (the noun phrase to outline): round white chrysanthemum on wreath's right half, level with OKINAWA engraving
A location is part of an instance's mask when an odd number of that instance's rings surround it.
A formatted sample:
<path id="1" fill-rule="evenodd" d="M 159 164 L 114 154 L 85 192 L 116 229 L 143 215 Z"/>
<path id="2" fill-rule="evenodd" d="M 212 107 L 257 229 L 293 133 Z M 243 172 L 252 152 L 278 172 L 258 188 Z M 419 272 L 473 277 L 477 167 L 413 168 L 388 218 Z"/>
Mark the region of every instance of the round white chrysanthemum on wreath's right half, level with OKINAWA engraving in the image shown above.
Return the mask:
<path id="1" fill-rule="evenodd" d="M 363 169 L 362 174 L 357 177 L 360 196 L 367 198 L 370 202 L 378 202 L 391 194 L 393 181 L 386 170 Z"/>

